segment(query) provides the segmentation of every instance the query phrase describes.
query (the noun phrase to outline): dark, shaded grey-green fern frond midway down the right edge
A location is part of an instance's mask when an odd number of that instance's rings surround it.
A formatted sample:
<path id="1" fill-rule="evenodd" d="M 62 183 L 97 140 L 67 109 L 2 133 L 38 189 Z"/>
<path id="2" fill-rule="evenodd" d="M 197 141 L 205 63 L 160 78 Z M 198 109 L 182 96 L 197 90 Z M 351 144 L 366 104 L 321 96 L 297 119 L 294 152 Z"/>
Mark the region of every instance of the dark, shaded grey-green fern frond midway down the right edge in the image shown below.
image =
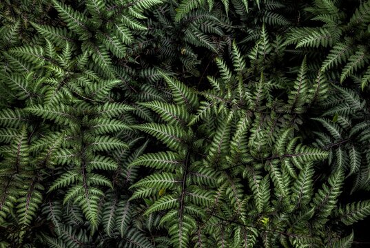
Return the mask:
<path id="1" fill-rule="evenodd" d="M 316 132 L 317 143 L 329 151 L 329 164 L 347 170 L 354 177 L 351 192 L 369 185 L 369 121 L 366 101 L 353 90 L 333 87 L 322 102 L 322 117 L 314 118 L 325 130 Z M 333 118 L 330 120 L 329 118 Z"/>

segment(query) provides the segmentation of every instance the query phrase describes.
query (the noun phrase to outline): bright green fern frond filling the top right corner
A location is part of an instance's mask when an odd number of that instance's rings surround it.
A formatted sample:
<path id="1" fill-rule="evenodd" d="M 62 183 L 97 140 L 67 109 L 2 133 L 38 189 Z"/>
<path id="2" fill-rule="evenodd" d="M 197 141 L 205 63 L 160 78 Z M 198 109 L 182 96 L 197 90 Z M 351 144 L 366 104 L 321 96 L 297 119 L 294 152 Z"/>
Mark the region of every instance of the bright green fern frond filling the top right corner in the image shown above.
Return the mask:
<path id="1" fill-rule="evenodd" d="M 329 47 L 330 51 L 321 62 L 322 72 L 340 68 L 340 75 L 335 80 L 344 83 L 349 76 L 361 76 L 361 87 L 368 84 L 366 69 L 369 67 L 369 39 L 367 32 L 370 23 L 369 1 L 360 1 L 353 13 L 338 8 L 340 1 L 314 1 L 307 8 L 311 19 L 320 21 L 321 26 L 314 28 L 292 28 L 287 44 L 296 44 L 296 48 Z"/>

